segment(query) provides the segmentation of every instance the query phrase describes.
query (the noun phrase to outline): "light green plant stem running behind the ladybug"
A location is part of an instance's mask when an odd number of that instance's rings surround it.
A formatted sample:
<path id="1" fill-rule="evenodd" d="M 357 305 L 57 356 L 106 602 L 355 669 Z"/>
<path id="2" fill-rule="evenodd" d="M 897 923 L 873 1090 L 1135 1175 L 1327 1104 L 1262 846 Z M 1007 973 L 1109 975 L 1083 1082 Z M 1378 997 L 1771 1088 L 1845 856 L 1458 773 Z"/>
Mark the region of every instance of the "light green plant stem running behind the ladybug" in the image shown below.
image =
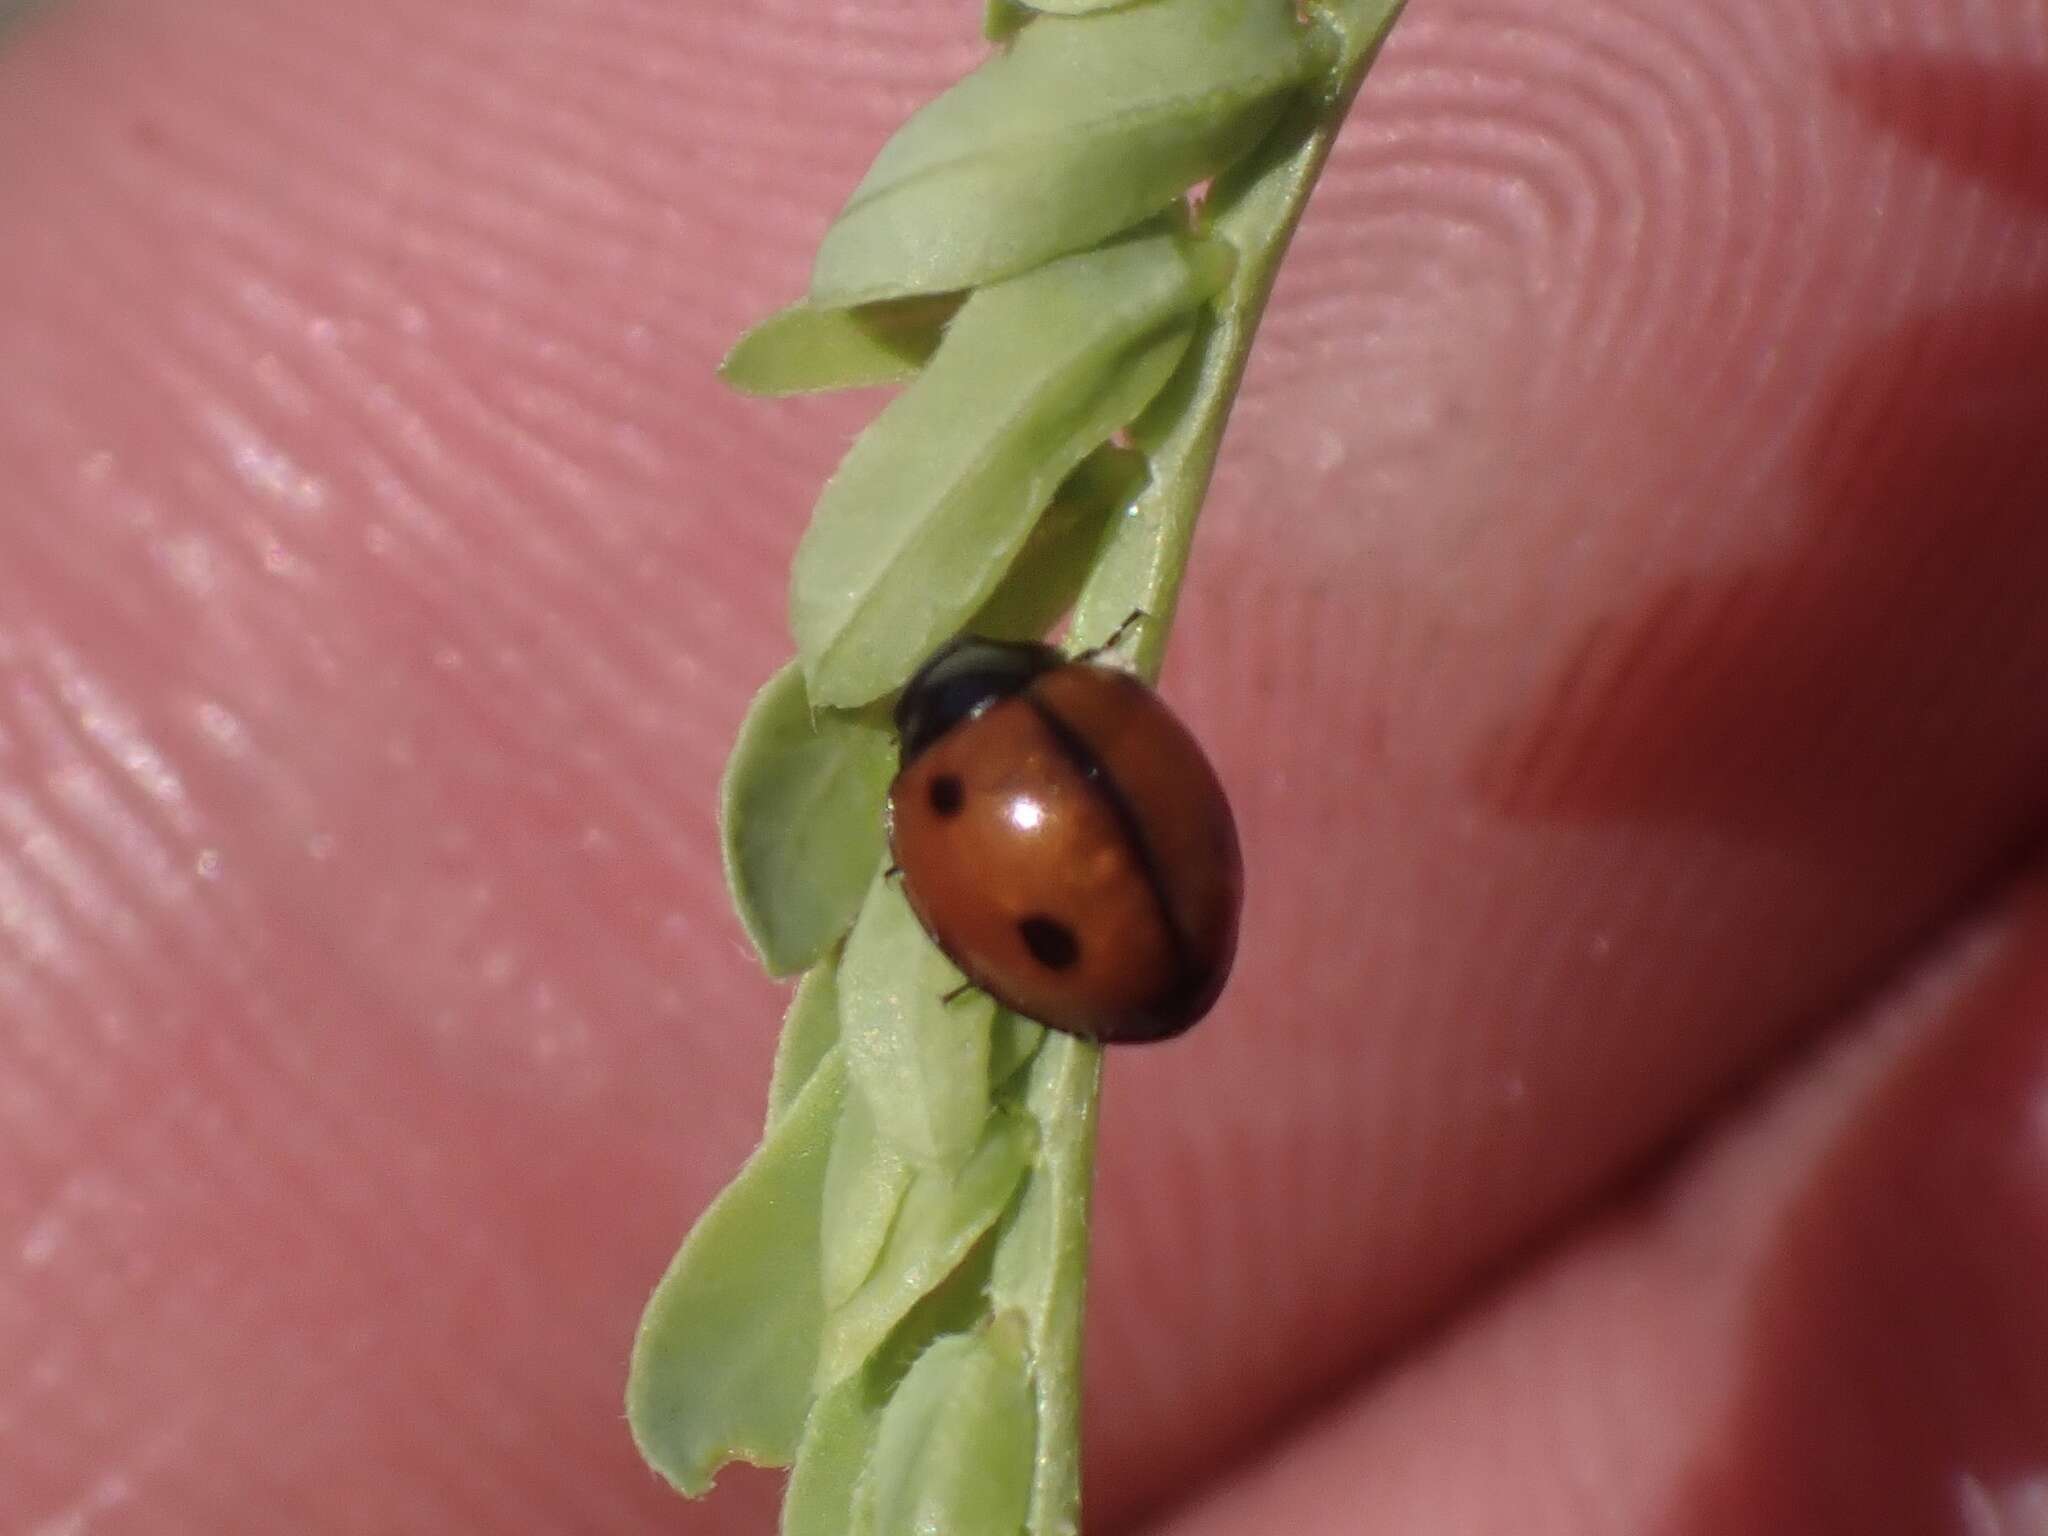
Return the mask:
<path id="1" fill-rule="evenodd" d="M 1208 231 L 1237 248 L 1237 272 L 1198 342 L 1200 367 L 1188 369 L 1151 414 L 1169 426 L 1155 440 L 1143 422 L 1133 432 L 1151 457 L 1151 485 L 1104 551 L 1073 618 L 1073 633 L 1094 639 L 1108 635 L 1133 606 L 1151 614 L 1155 623 L 1139 629 L 1135 645 L 1135 664 L 1147 678 L 1159 676 L 1196 514 L 1280 260 L 1399 12 L 1401 0 L 1348 0 L 1325 12 L 1337 35 L 1333 88 L 1298 102 L 1249 162 L 1210 188 Z M 1069 1036 L 1053 1036 L 1044 1051 L 1051 1057 L 1040 1061 L 1044 1104 L 1032 1108 L 1044 1133 L 1038 1178 L 1051 1176 L 1055 1186 L 1057 1262 L 1055 1294 L 1034 1313 L 1042 1335 L 1032 1339 L 1040 1382 L 1032 1536 L 1073 1536 L 1081 1522 L 1081 1292 L 1102 1051 Z"/>

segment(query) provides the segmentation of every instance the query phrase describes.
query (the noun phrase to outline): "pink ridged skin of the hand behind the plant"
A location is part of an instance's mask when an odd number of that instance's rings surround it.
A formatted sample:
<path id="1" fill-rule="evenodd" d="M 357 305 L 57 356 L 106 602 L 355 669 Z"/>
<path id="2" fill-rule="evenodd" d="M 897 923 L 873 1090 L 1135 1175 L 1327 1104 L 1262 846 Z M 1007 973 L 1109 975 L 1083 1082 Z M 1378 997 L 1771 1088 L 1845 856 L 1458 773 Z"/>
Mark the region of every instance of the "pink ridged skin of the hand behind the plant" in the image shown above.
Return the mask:
<path id="1" fill-rule="evenodd" d="M 10 1528 L 772 1528 L 618 1401 L 874 401 L 711 367 L 977 14 L 0 35 Z M 1090 1530 L 2042 1528 L 2044 145 L 2030 0 L 1415 0 L 1176 631 L 1247 911 L 1110 1071 Z"/>

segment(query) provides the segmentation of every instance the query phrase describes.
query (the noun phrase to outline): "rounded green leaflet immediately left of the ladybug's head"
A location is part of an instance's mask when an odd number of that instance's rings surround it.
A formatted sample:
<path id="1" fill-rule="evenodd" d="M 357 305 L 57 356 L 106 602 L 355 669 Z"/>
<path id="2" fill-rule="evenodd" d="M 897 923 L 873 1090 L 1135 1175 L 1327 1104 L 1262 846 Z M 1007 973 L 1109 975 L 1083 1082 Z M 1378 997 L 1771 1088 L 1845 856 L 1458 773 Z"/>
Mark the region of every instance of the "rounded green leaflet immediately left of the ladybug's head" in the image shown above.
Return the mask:
<path id="1" fill-rule="evenodd" d="M 725 766 L 719 834 L 733 905 L 768 975 L 803 971 L 854 922 L 883 862 L 893 776 L 891 733 L 813 711 L 795 666 L 754 696 Z"/>

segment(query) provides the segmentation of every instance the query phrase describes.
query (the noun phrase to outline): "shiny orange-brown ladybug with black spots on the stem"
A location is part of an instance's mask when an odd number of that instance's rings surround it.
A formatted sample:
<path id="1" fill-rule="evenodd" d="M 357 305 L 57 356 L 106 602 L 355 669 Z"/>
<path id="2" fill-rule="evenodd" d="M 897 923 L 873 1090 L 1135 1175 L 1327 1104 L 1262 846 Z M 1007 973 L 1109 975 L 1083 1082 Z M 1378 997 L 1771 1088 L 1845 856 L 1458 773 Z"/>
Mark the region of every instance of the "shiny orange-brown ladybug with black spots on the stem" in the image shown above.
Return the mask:
<path id="1" fill-rule="evenodd" d="M 889 852 L 918 922 L 1004 1008 L 1165 1040 L 1237 954 L 1237 823 L 1188 727 L 1096 655 L 975 635 L 932 655 L 895 707 Z"/>

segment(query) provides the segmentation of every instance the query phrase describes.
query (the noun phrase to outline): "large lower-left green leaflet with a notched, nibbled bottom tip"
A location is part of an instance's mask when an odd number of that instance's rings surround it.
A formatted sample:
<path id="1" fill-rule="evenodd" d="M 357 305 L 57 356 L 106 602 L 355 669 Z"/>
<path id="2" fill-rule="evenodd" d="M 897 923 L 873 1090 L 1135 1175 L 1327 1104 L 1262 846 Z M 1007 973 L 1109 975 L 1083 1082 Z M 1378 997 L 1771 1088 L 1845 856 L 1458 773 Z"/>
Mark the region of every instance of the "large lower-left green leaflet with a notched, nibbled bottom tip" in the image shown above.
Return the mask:
<path id="1" fill-rule="evenodd" d="M 641 1454 L 686 1495 L 731 1460 L 784 1466 L 819 1354 L 819 1198 L 846 1096 L 838 1053 L 711 1204 L 655 1286 L 627 1378 Z"/>

